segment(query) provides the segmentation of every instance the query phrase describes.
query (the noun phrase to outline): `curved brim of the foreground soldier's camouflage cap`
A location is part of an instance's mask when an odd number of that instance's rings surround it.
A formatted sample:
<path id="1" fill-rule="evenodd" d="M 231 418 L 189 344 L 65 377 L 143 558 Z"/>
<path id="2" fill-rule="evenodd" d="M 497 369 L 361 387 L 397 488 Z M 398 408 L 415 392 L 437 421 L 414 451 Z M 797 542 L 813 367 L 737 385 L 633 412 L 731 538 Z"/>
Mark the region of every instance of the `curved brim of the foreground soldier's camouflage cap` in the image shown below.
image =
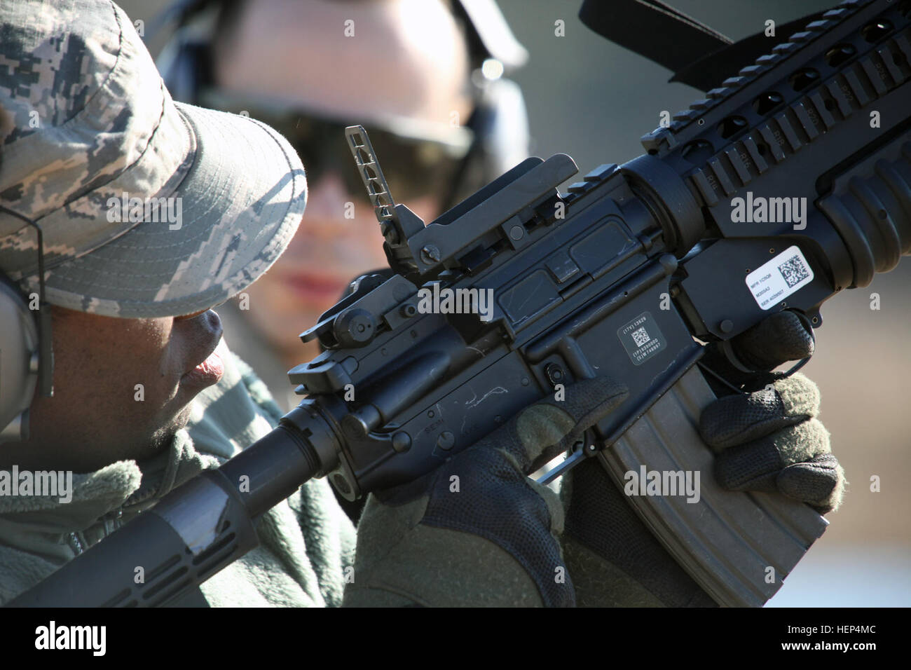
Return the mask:
<path id="1" fill-rule="evenodd" d="M 167 214 L 153 210 L 154 221 L 47 271 L 50 303 L 123 318 L 192 314 L 240 293 L 291 242 L 307 185 L 288 142 L 254 119 L 174 105 L 196 154 Z"/>

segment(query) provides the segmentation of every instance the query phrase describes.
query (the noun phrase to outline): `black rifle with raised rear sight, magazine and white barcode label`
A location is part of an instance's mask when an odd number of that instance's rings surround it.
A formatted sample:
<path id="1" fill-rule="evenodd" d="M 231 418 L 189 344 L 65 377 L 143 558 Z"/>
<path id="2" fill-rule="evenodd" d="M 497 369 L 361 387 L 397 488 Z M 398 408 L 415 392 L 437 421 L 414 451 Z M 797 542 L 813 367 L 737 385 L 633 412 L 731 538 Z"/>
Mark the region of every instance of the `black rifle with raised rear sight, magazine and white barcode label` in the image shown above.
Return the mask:
<path id="1" fill-rule="evenodd" d="M 818 327 L 825 300 L 911 251 L 909 26 L 911 2 L 839 5 L 646 135 L 639 158 L 568 193 L 568 156 L 528 159 L 426 226 L 349 129 L 394 276 L 363 277 L 302 335 L 327 350 L 289 373 L 306 397 L 278 428 L 12 604 L 173 603 L 250 551 L 252 520 L 307 479 L 349 500 L 414 479 L 608 371 L 630 397 L 560 471 L 587 457 L 618 482 L 640 464 L 701 470 L 698 504 L 630 503 L 718 603 L 764 603 L 825 521 L 714 482 L 694 337 L 721 343 L 727 372 L 711 373 L 740 391 L 731 370 L 752 371 L 733 336 L 784 309 Z M 426 313 L 434 296 L 456 302 Z"/>

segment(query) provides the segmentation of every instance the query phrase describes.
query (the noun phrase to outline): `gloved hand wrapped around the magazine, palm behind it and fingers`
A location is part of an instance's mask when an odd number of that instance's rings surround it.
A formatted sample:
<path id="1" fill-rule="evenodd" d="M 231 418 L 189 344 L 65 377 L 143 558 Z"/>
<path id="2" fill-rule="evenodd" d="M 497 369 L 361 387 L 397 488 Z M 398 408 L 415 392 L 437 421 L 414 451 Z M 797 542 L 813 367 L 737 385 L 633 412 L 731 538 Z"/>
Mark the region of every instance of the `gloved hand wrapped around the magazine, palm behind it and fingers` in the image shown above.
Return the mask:
<path id="1" fill-rule="evenodd" d="M 761 370 L 811 356 L 813 346 L 812 336 L 790 312 L 773 314 L 732 340 L 741 361 Z M 732 368 L 722 368 L 717 347 L 705 360 L 716 371 L 733 375 Z M 749 378 L 754 376 L 736 381 Z M 732 490 L 777 487 L 817 510 L 833 509 L 841 499 L 844 473 L 831 454 L 828 433 L 814 418 L 818 390 L 802 375 L 774 381 L 773 389 L 722 397 L 702 412 L 703 438 L 723 449 L 716 459 L 716 478 Z M 595 459 L 563 478 L 560 497 L 567 506 L 563 549 L 579 605 L 714 605 Z"/>

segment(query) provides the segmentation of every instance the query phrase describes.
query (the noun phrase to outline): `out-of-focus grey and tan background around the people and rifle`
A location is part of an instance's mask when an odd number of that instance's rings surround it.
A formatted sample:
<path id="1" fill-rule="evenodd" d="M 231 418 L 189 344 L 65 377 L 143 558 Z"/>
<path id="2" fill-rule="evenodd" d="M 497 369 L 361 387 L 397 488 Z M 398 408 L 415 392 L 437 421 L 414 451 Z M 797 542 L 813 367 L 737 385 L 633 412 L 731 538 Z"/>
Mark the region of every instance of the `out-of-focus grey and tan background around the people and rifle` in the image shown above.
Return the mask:
<path id="1" fill-rule="evenodd" d="M 605 0 L 608 1 L 608 0 Z M 734 40 L 835 5 L 818 0 L 666 0 Z M 580 174 L 642 153 L 640 137 L 703 98 L 671 73 L 610 44 L 578 21 L 580 0 L 499 0 L 530 57 L 522 86 L 533 153 L 568 153 Z M 161 0 L 124 0 L 148 25 Z M 554 35 L 554 22 L 566 35 Z M 161 37 L 148 41 L 153 56 Z M 283 67 L 287 67 L 285 64 Z M 304 165 L 306 157 L 302 157 Z M 378 239 L 379 243 L 379 239 Z M 911 605 L 911 260 L 824 305 L 817 350 L 804 372 L 822 392 L 820 419 L 850 482 L 831 527 L 785 580 L 769 606 Z M 870 294 L 881 309 L 870 309 Z M 870 491 L 878 475 L 881 491 Z"/>

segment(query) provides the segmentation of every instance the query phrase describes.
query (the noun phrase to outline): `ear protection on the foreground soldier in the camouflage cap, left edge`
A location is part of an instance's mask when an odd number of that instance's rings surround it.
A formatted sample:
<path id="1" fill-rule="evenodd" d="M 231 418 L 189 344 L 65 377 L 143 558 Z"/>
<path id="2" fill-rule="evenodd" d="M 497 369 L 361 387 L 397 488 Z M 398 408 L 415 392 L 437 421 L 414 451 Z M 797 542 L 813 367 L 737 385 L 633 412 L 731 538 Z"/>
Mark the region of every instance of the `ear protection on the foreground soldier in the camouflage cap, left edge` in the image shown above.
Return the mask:
<path id="1" fill-rule="evenodd" d="M 35 388 L 54 394 L 54 352 L 50 305 L 45 300 L 45 254 L 41 227 L 17 211 L 0 211 L 35 228 L 38 244 L 38 294 L 26 296 L 0 273 L 0 443 L 28 438 L 28 407 Z M 37 299 L 37 303 L 36 303 Z"/>

